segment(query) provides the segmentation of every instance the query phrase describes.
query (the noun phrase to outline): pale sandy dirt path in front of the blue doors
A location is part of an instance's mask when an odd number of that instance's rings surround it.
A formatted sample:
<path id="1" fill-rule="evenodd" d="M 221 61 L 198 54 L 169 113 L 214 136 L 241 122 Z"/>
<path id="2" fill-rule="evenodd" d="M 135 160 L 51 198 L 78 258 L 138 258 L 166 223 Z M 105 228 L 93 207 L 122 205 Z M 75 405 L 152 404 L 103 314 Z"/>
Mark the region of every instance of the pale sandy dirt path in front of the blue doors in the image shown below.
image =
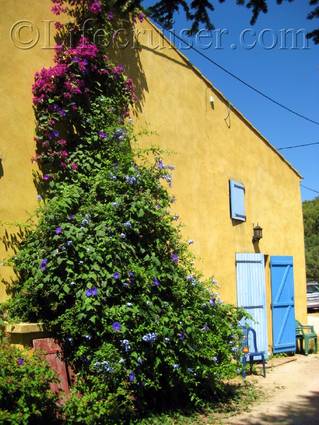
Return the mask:
<path id="1" fill-rule="evenodd" d="M 257 378 L 266 400 L 250 412 L 224 420 L 225 425 L 319 425 L 319 354 L 297 360 Z"/>

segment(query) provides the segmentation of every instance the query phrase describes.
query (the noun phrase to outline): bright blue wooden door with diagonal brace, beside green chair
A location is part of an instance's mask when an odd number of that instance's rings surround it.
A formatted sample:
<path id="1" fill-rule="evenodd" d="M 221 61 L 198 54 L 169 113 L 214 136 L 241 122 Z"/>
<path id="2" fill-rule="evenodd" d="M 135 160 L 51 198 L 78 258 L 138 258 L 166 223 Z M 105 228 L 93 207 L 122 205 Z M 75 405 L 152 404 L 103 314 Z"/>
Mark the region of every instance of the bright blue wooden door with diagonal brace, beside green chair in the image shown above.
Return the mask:
<path id="1" fill-rule="evenodd" d="M 296 351 L 293 257 L 271 257 L 274 353 Z"/>

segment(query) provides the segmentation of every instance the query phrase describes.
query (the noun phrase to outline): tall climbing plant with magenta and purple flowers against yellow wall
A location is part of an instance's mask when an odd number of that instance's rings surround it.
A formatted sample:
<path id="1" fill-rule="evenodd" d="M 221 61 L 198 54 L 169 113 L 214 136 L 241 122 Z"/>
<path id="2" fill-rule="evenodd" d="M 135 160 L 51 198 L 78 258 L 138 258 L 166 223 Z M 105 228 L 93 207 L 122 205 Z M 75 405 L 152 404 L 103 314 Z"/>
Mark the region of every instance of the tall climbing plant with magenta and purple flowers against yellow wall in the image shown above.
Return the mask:
<path id="1" fill-rule="evenodd" d="M 11 261 L 9 313 L 44 322 L 63 347 L 76 374 L 69 423 L 123 423 L 164 399 L 201 404 L 236 371 L 242 312 L 194 271 L 170 213 L 173 167 L 156 150 L 134 154 L 132 80 L 94 28 L 80 34 L 94 18 L 112 35 L 125 9 L 53 3 L 71 19 L 56 24 L 54 66 L 35 75 L 40 206 Z"/>

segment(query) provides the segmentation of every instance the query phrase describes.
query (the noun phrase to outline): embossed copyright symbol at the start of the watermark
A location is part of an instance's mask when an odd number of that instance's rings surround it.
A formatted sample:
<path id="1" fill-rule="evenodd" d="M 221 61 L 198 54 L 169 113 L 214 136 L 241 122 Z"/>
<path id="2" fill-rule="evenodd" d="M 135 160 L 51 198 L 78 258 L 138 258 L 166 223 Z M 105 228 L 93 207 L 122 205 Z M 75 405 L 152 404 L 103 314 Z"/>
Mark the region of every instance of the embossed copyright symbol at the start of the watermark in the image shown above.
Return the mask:
<path id="1" fill-rule="evenodd" d="M 17 21 L 10 29 L 10 39 L 18 49 L 32 49 L 38 43 L 39 38 L 39 28 L 31 21 Z"/>

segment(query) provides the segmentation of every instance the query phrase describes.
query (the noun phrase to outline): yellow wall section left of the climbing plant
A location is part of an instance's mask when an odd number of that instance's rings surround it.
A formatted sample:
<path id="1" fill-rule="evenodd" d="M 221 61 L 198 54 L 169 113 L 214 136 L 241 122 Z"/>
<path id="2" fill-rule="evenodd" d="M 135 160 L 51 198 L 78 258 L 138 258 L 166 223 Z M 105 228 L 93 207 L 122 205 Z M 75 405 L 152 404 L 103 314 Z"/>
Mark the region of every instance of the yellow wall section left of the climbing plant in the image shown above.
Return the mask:
<path id="1" fill-rule="evenodd" d="M 7 280 L 12 273 L 2 262 L 11 251 L 1 243 L 4 232 L 25 222 L 37 205 L 31 86 L 35 71 L 51 63 L 52 50 L 43 48 L 49 43 L 47 24 L 41 22 L 51 17 L 49 1 L 1 0 L 0 4 L 0 276 Z M 5 297 L 0 284 L 0 300 Z"/>

